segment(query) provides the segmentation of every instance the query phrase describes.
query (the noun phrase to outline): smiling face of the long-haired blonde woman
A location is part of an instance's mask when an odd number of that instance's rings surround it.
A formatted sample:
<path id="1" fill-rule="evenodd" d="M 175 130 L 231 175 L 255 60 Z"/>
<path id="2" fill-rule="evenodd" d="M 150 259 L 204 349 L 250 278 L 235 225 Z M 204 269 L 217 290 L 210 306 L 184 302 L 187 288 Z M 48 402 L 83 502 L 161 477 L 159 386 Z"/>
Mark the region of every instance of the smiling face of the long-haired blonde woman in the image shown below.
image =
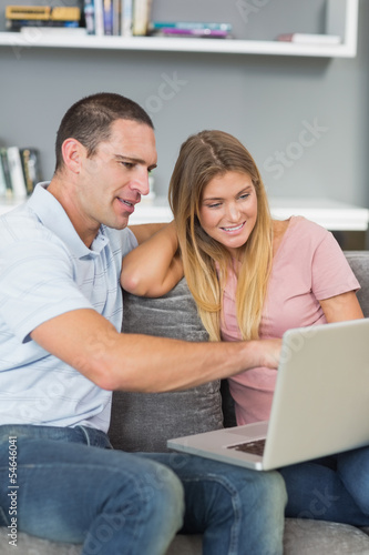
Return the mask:
<path id="1" fill-rule="evenodd" d="M 247 173 L 229 171 L 208 182 L 199 205 L 199 223 L 233 256 L 248 240 L 257 219 L 257 196 Z"/>

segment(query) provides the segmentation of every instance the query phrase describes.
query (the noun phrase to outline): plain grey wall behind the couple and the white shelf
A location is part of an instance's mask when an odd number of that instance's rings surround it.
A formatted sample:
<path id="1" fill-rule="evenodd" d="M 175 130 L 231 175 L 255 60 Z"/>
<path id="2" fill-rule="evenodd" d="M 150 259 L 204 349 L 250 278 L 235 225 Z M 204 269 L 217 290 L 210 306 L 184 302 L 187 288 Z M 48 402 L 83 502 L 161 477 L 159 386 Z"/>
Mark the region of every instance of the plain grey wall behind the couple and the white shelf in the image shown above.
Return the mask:
<path id="1" fill-rule="evenodd" d="M 248 13 L 247 6 L 254 7 Z M 291 30 L 322 32 L 324 6 L 153 0 L 153 18 L 225 20 L 237 38 L 274 39 Z M 270 195 L 330 196 L 369 206 L 368 28 L 369 3 L 360 0 L 356 59 L 1 47 L 0 141 L 38 147 L 50 179 L 55 131 L 69 105 L 98 91 L 120 92 L 154 120 L 158 194 L 166 194 L 181 142 L 217 128 L 250 150 Z"/>

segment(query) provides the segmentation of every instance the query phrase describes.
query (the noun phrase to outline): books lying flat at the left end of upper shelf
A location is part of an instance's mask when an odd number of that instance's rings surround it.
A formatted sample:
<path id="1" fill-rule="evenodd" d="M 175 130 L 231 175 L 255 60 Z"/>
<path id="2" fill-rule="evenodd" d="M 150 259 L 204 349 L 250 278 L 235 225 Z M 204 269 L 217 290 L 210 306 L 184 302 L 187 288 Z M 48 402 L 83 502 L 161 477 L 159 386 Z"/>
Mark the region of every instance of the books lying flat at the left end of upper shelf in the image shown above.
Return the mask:
<path id="1" fill-rule="evenodd" d="M 81 10 L 76 7 L 7 6 L 6 28 L 21 31 L 24 28 L 73 29 L 79 28 Z"/>

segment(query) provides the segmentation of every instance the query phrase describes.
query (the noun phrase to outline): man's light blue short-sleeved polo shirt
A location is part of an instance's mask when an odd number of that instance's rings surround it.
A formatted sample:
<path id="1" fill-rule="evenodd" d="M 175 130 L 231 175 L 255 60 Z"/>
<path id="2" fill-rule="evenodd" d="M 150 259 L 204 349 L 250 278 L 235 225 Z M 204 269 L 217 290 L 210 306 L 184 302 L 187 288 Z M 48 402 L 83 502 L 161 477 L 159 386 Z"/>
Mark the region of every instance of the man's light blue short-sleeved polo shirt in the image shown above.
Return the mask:
<path id="1" fill-rule="evenodd" d="M 94 309 L 121 331 L 122 258 L 133 233 L 104 225 L 88 249 L 40 183 L 0 218 L 0 425 L 86 425 L 107 431 L 111 392 L 41 349 L 30 333 L 78 309 Z"/>

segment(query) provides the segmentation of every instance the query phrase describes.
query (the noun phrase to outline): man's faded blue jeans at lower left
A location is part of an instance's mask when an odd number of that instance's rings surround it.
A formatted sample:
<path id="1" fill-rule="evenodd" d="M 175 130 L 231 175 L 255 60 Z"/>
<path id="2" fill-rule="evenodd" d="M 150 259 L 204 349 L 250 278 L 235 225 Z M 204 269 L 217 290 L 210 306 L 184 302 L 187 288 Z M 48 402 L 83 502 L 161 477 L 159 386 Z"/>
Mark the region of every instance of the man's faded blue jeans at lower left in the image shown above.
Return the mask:
<path id="1" fill-rule="evenodd" d="M 0 524 L 83 555 L 162 555 L 181 526 L 207 555 L 281 554 L 285 504 L 278 473 L 113 451 L 86 427 L 0 426 Z"/>

